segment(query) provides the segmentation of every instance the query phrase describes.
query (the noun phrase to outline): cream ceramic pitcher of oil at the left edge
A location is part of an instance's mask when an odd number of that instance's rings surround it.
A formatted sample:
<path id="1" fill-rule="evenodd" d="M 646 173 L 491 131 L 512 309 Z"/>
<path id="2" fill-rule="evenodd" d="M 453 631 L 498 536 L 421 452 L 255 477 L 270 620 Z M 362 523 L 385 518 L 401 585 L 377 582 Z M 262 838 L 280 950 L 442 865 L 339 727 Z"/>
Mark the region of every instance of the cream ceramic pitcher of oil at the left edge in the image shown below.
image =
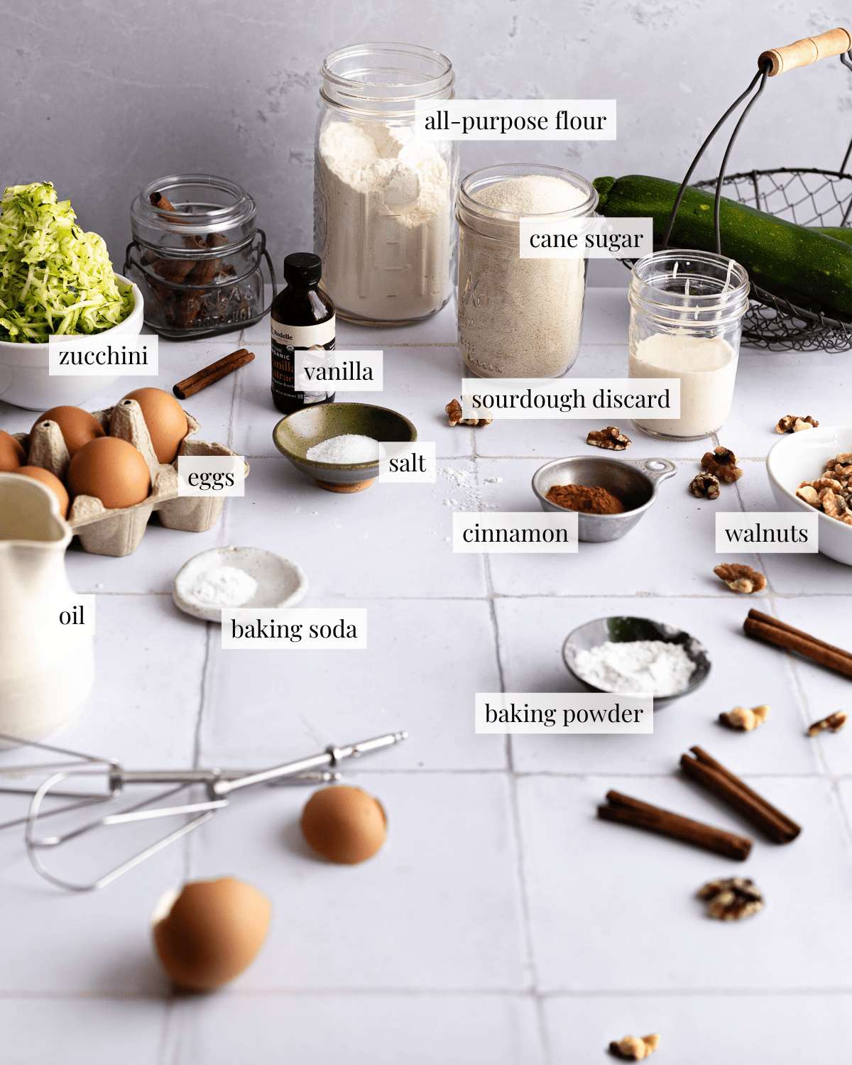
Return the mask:
<path id="1" fill-rule="evenodd" d="M 0 473 L 0 732 L 7 735 L 47 736 L 92 690 L 93 639 L 60 624 L 75 600 L 65 574 L 71 535 L 49 489 Z"/>

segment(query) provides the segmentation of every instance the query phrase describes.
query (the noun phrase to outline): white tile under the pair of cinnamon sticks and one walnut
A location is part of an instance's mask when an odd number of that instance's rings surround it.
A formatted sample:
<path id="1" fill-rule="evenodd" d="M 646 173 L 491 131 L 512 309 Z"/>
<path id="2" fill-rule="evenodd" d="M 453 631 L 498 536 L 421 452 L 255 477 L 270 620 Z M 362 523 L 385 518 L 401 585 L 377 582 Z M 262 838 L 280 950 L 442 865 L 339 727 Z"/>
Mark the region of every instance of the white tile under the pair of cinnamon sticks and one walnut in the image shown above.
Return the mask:
<path id="1" fill-rule="evenodd" d="M 747 782 L 756 784 L 748 776 Z M 596 806 L 615 788 L 753 835 L 737 815 L 678 780 L 611 774 L 522 780 L 524 869 L 540 987 L 609 993 L 848 988 L 852 915 L 843 899 L 852 855 L 831 789 L 821 780 L 789 776 L 761 779 L 757 787 L 803 830 L 785 846 L 754 835 L 748 861 L 733 862 L 596 818 Z M 695 891 L 709 880 L 738 875 L 761 888 L 765 910 L 732 923 L 707 918 Z M 819 892 L 822 905 L 803 905 L 812 892 Z M 658 1030 L 649 1023 L 650 1029 L 634 1034 Z M 617 1029 L 610 1037 L 623 1034 Z"/>

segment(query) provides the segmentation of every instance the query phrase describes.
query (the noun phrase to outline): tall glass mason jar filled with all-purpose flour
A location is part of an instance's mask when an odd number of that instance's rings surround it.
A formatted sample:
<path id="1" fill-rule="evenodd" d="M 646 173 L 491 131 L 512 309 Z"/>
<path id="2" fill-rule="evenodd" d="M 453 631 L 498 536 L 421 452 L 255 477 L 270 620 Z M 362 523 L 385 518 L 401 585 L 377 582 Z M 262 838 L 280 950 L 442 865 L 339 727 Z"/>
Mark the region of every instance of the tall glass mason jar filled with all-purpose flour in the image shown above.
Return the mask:
<path id="1" fill-rule="evenodd" d="M 314 155 L 314 251 L 339 317 L 408 325 L 440 311 L 455 283 L 452 141 L 414 136 L 414 102 L 453 98 L 444 55 L 353 45 L 322 69 Z"/>

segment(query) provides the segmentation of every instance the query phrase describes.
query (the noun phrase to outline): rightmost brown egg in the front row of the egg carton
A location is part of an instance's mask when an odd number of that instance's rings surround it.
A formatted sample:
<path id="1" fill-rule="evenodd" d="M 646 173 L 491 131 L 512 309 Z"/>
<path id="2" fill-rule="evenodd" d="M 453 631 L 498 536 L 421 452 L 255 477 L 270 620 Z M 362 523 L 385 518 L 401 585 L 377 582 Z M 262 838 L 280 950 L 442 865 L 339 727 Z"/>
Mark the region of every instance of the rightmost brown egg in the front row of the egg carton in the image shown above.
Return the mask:
<path id="1" fill-rule="evenodd" d="M 117 437 L 89 440 L 68 463 L 65 479 L 71 498 L 94 495 L 108 510 L 142 503 L 151 487 L 145 459 Z"/>

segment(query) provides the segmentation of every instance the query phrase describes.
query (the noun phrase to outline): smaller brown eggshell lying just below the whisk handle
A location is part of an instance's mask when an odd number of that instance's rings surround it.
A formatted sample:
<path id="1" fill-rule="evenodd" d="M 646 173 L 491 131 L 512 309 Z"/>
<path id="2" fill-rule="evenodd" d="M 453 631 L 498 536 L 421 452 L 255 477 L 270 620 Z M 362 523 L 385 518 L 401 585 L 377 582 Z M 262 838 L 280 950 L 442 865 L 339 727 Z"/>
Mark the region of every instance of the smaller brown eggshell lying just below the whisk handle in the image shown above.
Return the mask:
<path id="1" fill-rule="evenodd" d="M 384 842 L 386 824 L 378 799 L 345 784 L 314 791 L 301 812 L 301 831 L 310 846 L 342 865 L 372 858 Z"/>

